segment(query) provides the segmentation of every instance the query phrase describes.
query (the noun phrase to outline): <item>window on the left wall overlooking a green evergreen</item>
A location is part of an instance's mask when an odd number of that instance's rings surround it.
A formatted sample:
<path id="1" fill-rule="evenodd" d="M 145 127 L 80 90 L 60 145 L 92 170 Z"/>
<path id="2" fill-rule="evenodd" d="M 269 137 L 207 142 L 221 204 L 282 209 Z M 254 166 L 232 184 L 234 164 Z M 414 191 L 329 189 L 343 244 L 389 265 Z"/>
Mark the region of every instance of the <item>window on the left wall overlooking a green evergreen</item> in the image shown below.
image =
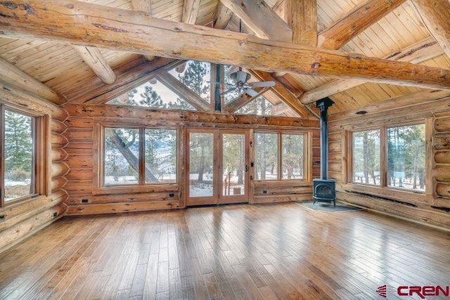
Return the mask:
<path id="1" fill-rule="evenodd" d="M 42 173 L 45 164 L 36 164 L 38 152 L 44 152 L 37 147 L 41 119 L 0 105 L 1 206 L 44 192 L 38 186 L 37 174 Z"/>

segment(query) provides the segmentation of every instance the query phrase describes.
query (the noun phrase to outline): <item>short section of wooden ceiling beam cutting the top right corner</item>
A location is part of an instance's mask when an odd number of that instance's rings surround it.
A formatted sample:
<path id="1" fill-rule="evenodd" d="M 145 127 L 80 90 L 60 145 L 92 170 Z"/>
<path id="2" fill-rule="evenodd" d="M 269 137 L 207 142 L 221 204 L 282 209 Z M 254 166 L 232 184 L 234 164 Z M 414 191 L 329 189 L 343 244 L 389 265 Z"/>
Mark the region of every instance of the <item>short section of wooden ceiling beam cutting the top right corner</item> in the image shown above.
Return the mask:
<path id="1" fill-rule="evenodd" d="M 450 1 L 413 0 L 428 31 L 450 58 Z"/>

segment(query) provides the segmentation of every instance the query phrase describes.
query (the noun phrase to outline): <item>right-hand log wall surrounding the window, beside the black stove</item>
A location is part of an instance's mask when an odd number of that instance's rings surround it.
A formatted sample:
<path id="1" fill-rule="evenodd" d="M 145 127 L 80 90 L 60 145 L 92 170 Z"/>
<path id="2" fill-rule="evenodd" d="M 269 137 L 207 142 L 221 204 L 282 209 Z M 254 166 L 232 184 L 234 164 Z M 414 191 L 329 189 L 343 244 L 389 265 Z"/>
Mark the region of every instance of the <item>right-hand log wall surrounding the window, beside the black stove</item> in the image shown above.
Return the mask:
<path id="1" fill-rule="evenodd" d="M 329 123 L 329 176 L 337 181 L 338 200 L 366 207 L 438 228 L 450 229 L 450 111 L 435 111 L 448 107 L 449 98 L 428 105 L 408 108 L 385 108 L 367 116 L 338 119 Z M 386 107 L 388 107 L 386 105 Z M 422 106 L 423 107 L 423 106 Z M 436 107 L 436 108 L 433 108 Z M 364 110 L 362 108 L 361 110 Z M 392 126 L 405 122 L 425 123 L 428 141 L 425 193 L 413 193 L 392 188 L 347 183 L 347 131 Z"/>

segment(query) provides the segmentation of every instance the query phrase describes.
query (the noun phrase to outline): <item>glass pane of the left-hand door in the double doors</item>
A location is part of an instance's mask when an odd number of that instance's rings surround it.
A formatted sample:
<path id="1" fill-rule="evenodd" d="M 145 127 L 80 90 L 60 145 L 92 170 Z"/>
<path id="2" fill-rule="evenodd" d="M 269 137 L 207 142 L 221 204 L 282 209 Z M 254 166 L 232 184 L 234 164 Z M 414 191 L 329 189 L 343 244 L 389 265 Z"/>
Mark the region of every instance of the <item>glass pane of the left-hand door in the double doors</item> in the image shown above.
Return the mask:
<path id="1" fill-rule="evenodd" d="M 189 197 L 212 197 L 214 133 L 189 135 Z"/>

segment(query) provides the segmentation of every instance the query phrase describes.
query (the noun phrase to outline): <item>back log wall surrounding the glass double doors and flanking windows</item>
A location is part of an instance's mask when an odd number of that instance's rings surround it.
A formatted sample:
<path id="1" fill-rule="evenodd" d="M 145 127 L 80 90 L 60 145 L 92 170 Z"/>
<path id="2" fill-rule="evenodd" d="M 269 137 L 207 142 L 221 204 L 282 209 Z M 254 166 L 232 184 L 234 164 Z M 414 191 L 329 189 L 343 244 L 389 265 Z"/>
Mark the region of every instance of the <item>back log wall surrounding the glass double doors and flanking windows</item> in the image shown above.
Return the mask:
<path id="1" fill-rule="evenodd" d="M 68 192 L 66 214 L 103 214 L 124 211 L 142 211 L 151 209 L 176 209 L 185 207 L 186 199 L 182 193 L 184 176 L 179 176 L 179 184 L 174 187 L 148 190 L 136 188 L 136 191 L 124 193 L 96 193 L 94 175 L 98 163 L 95 161 L 94 147 L 95 124 L 126 123 L 147 126 L 178 126 L 181 145 L 185 145 L 186 128 L 223 128 L 223 129 L 302 129 L 312 133 L 314 150 L 311 174 L 317 176 L 319 168 L 319 126 L 318 121 L 297 118 L 233 116 L 204 112 L 185 112 L 143 109 L 138 107 L 120 107 L 115 105 L 65 105 L 70 117 L 65 120 L 68 129 L 64 132 L 68 145 L 64 148 L 68 157 L 64 160 L 70 171 L 65 175 L 67 183 L 64 188 Z M 186 156 L 181 156 L 186 157 Z M 181 158 L 182 159 L 182 158 Z M 184 162 L 180 162 L 184 166 Z M 183 168 L 183 167 L 181 167 Z M 286 188 L 282 183 L 251 182 L 250 202 L 276 202 L 311 199 L 311 182 L 304 182 Z M 263 190 L 265 193 L 263 194 Z M 180 193 L 181 192 L 181 193 Z M 169 194 L 173 194 L 172 197 Z M 180 196 L 181 195 L 181 196 Z"/>

